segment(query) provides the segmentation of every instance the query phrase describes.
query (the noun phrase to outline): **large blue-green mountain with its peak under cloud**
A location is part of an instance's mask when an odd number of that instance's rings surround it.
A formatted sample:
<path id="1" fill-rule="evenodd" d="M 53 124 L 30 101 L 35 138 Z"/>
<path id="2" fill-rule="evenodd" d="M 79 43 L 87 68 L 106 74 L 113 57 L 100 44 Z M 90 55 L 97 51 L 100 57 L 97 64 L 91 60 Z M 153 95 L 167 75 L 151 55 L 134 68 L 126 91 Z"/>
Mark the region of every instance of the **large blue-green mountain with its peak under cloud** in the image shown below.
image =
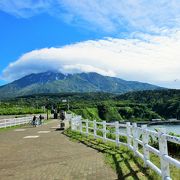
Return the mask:
<path id="1" fill-rule="evenodd" d="M 40 93 L 60 92 L 109 92 L 125 93 L 138 90 L 154 90 L 160 87 L 137 81 L 125 81 L 98 73 L 62 74 L 44 72 L 30 74 L 0 87 L 0 98 L 11 98 Z"/>

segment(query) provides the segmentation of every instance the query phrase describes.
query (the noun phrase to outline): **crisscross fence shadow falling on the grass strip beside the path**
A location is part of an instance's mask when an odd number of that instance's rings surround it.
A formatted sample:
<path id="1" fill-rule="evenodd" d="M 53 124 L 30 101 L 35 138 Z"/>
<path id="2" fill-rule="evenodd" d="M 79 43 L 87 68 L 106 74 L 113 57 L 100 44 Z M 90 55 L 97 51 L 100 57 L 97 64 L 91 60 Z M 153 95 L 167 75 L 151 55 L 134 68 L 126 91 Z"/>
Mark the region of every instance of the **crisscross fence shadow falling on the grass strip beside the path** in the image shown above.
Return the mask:
<path id="1" fill-rule="evenodd" d="M 93 148 L 101 153 L 106 153 L 108 156 L 111 157 L 116 174 L 118 176 L 118 180 L 125 180 L 128 178 L 133 178 L 135 180 L 141 180 L 141 178 L 138 177 L 138 173 L 144 174 L 145 177 L 147 177 L 148 180 L 153 180 L 153 176 L 148 174 L 147 169 L 143 167 L 143 164 L 141 165 L 140 162 L 138 162 L 136 156 L 131 156 L 127 158 L 127 151 L 126 150 L 120 150 L 118 148 L 110 147 L 106 145 L 105 143 L 98 142 L 95 140 L 91 140 L 89 138 L 83 137 L 82 135 L 73 135 L 73 134 L 67 134 L 63 133 L 65 136 L 68 136 L 71 139 L 76 139 L 78 142 L 86 145 L 87 147 Z M 117 155 L 119 158 L 117 158 Z M 126 156 L 126 158 L 125 158 Z M 122 164 L 124 164 L 126 171 L 123 169 Z M 134 168 L 133 164 L 135 164 L 137 167 Z"/>

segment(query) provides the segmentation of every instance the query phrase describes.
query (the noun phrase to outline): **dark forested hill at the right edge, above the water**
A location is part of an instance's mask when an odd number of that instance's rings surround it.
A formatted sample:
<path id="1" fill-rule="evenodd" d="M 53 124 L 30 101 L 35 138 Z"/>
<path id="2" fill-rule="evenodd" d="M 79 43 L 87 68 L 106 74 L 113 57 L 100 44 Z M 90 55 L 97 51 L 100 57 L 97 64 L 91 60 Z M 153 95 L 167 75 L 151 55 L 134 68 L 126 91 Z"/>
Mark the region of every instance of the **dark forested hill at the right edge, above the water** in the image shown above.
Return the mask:
<path id="1" fill-rule="evenodd" d="M 165 119 L 180 119 L 180 90 L 131 92 L 116 96 L 115 100 L 145 104 Z"/>

